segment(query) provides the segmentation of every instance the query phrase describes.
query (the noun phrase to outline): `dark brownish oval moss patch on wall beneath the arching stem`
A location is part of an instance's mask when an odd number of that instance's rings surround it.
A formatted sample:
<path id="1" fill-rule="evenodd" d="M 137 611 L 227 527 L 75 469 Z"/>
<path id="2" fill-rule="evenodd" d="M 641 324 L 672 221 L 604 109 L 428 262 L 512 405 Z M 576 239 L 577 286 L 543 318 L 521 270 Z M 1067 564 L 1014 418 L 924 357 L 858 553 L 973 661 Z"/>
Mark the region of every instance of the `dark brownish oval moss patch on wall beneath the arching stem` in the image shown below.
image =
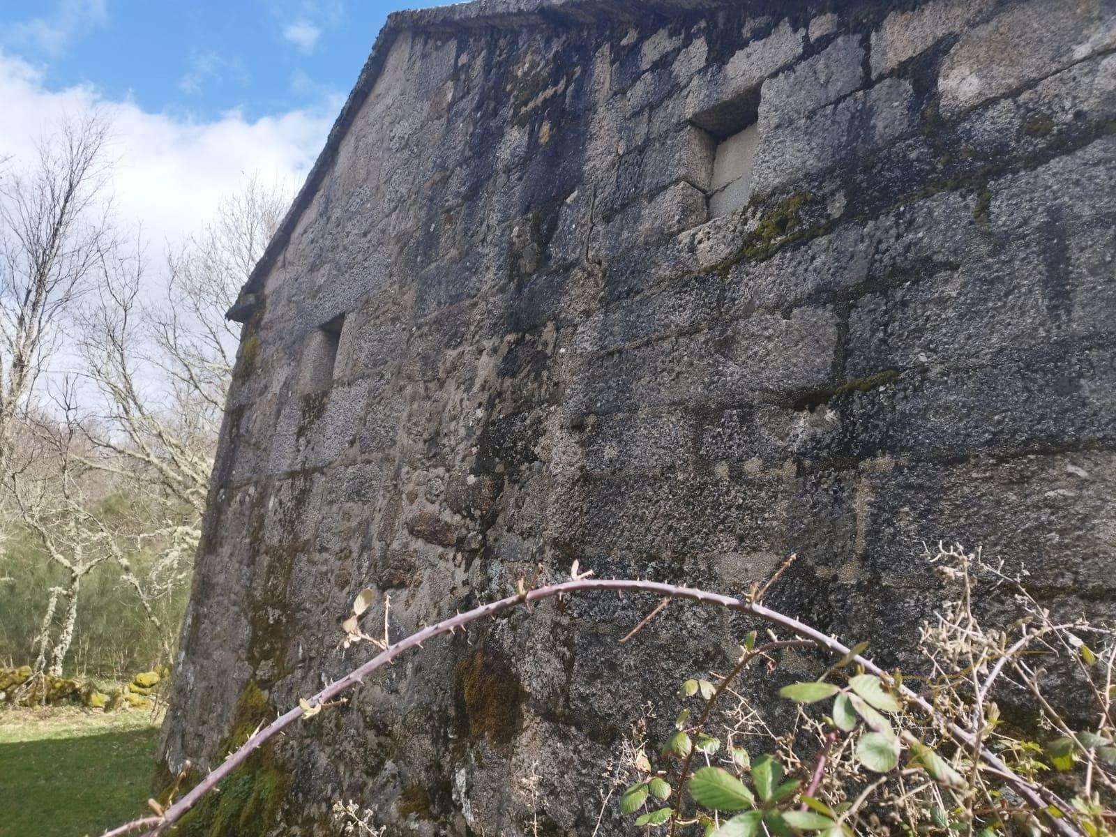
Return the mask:
<path id="1" fill-rule="evenodd" d="M 507 657 L 478 648 L 454 667 L 453 685 L 469 740 L 509 744 L 522 722 L 523 690 Z"/>

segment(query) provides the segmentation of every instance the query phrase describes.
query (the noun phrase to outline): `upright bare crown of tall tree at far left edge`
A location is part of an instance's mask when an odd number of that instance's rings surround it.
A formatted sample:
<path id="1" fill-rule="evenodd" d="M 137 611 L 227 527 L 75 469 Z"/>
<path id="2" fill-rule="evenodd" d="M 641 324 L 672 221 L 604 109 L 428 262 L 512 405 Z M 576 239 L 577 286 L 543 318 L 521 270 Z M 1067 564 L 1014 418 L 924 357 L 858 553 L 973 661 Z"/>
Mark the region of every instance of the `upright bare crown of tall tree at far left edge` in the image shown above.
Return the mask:
<path id="1" fill-rule="evenodd" d="M 99 115 L 67 122 L 0 181 L 0 445 L 57 348 L 57 325 L 114 247 L 107 133 Z"/>

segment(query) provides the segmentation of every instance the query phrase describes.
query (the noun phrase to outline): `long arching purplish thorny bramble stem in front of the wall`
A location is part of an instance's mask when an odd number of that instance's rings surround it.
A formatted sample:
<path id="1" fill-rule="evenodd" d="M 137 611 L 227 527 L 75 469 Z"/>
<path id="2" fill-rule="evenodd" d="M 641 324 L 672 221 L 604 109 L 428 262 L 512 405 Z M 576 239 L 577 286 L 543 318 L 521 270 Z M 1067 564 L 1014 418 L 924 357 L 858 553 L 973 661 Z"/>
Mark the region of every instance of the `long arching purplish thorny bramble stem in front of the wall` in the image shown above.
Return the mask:
<path id="1" fill-rule="evenodd" d="M 474 608 L 463 614 L 456 614 L 448 619 L 439 622 L 434 625 L 429 625 L 422 631 L 412 634 L 405 639 L 401 639 L 394 645 L 388 646 L 379 654 L 374 656 L 368 662 L 353 670 L 346 674 L 340 680 L 335 681 L 329 684 L 320 692 L 315 694 L 309 699 L 309 704 L 312 706 L 320 706 L 320 704 L 336 698 L 341 692 L 352 689 L 354 685 L 364 681 L 369 674 L 375 672 L 377 668 L 387 665 L 394 661 L 397 656 L 412 648 L 420 647 L 424 642 L 433 639 L 436 636 L 443 636 L 446 634 L 452 634 L 459 628 L 464 628 L 466 625 L 484 618 L 485 616 L 496 616 L 497 614 L 511 610 L 512 608 L 521 605 L 529 604 L 532 602 L 541 602 L 543 599 L 554 598 L 556 596 L 568 596 L 574 594 L 584 594 L 595 590 L 615 590 L 615 591 L 629 591 L 629 593 L 648 593 L 652 595 L 664 596 L 667 598 L 681 598 L 689 599 L 691 602 L 698 602 L 703 605 L 714 605 L 716 607 L 723 607 L 737 613 L 743 613 L 757 618 L 769 622 L 773 625 L 778 625 L 781 628 L 795 634 L 796 636 L 808 639 L 820 647 L 836 654 L 838 656 L 850 655 L 850 650 L 844 644 L 834 639 L 833 637 L 821 633 L 817 628 L 810 627 L 798 619 L 791 618 L 785 614 L 777 610 L 772 610 L 757 602 L 748 602 L 745 599 L 734 598 L 732 596 L 723 596 L 716 593 L 706 593 L 705 590 L 699 590 L 693 587 L 681 587 L 672 584 L 663 584 L 660 581 L 642 581 L 642 580 L 629 580 L 629 579 L 593 579 L 584 578 L 579 580 L 564 581 L 562 584 L 549 585 L 545 587 L 539 587 L 538 589 L 527 590 L 517 596 L 508 596 L 507 598 L 499 599 L 498 602 L 492 602 L 481 607 Z M 859 665 L 862 665 L 865 671 L 870 672 L 879 677 L 883 677 L 886 682 L 891 683 L 892 680 L 886 672 L 884 672 L 879 666 L 873 663 L 870 660 L 864 657 L 863 655 L 852 655 L 852 660 Z M 942 718 L 941 713 L 936 712 L 934 708 L 923 698 L 915 694 L 911 689 L 905 685 L 899 685 L 896 690 L 903 695 L 903 698 L 917 705 L 922 709 L 929 716 L 937 720 L 943 728 L 949 732 L 950 737 L 960 745 L 973 749 L 974 740 L 973 737 L 961 729 L 956 724 L 952 723 L 947 719 Z M 176 822 L 186 811 L 189 811 L 198 801 L 210 792 L 218 783 L 229 776 L 233 770 L 235 770 L 244 760 L 251 756 L 259 747 L 264 742 L 277 735 L 279 732 L 290 727 L 299 718 L 302 716 L 302 709 L 300 706 L 295 706 L 288 710 L 283 714 L 279 715 L 275 721 L 258 730 L 252 734 L 235 752 L 231 753 L 221 764 L 219 764 L 214 770 L 212 770 L 201 782 L 198 783 L 190 792 L 182 797 L 177 802 L 170 806 L 162 817 L 152 818 L 145 817 L 142 820 L 136 820 L 134 822 L 126 824 L 119 828 L 108 831 L 108 835 L 122 835 L 128 831 L 140 830 L 142 828 L 148 828 L 146 834 L 150 837 L 160 835 L 170 828 L 174 822 Z M 1018 792 L 1027 804 L 1038 812 L 1040 816 L 1046 816 L 1047 821 L 1055 833 L 1061 835 L 1062 837 L 1080 837 L 1078 829 L 1066 819 L 1056 819 L 1050 817 L 1046 812 L 1047 802 L 1043 799 L 1042 791 L 1036 786 L 1031 785 L 1029 781 L 1022 777 L 1012 772 L 1006 764 L 1003 764 L 1000 759 L 984 747 L 980 750 L 981 760 L 991 767 L 994 771 L 1004 777 L 1004 780 L 1011 785 L 1011 787 Z"/>

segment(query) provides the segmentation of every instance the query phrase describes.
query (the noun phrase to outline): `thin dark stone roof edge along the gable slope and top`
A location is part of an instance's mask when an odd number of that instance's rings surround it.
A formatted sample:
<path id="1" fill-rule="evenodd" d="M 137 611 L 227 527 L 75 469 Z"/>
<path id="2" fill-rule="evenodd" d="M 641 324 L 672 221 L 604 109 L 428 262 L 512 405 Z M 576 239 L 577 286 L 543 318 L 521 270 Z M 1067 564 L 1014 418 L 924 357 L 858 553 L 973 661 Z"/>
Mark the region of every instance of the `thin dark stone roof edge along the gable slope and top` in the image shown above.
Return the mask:
<path id="1" fill-rule="evenodd" d="M 599 20 L 619 21 L 645 18 L 648 13 L 662 17 L 680 15 L 687 11 L 716 7 L 738 6 L 749 0 L 472 0 L 472 2 L 437 6 L 429 9 L 392 12 L 387 22 L 379 30 L 372 47 L 368 60 L 365 61 L 357 77 L 356 85 L 349 93 L 340 114 L 329 129 L 326 144 L 306 182 L 299 189 L 290 209 L 279 223 L 275 235 L 268 242 L 263 254 L 256 263 L 248 281 L 240 290 L 240 296 L 225 315 L 229 319 L 246 323 L 256 309 L 258 300 L 256 292 L 260 289 L 263 278 L 275 266 L 276 259 L 287 247 L 290 234 L 295 230 L 302 211 L 314 199 L 318 186 L 333 164 L 334 156 L 341 138 L 359 112 L 383 69 L 392 46 L 400 33 L 404 31 L 446 32 L 453 33 L 475 28 L 514 28 L 521 26 L 555 23 L 584 25 Z"/>

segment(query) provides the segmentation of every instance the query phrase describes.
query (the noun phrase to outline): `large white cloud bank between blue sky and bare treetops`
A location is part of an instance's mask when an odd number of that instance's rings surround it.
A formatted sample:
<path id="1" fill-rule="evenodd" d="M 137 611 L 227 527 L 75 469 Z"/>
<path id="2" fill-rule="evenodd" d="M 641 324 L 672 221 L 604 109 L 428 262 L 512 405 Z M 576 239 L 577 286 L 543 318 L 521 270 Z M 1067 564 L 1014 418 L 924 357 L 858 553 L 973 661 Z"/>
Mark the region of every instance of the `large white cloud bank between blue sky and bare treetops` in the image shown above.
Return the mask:
<path id="1" fill-rule="evenodd" d="M 0 52 L 0 158 L 30 158 L 35 144 L 66 118 L 93 109 L 112 123 L 116 163 L 110 190 L 122 224 L 142 222 L 152 267 L 164 243 L 203 227 L 220 200 L 257 175 L 301 185 L 325 142 L 336 108 L 291 110 L 249 121 L 232 110 L 211 121 L 148 113 L 135 103 L 105 99 L 89 85 L 48 90 L 39 70 Z M 17 127 L 18 126 L 18 127 Z"/>

